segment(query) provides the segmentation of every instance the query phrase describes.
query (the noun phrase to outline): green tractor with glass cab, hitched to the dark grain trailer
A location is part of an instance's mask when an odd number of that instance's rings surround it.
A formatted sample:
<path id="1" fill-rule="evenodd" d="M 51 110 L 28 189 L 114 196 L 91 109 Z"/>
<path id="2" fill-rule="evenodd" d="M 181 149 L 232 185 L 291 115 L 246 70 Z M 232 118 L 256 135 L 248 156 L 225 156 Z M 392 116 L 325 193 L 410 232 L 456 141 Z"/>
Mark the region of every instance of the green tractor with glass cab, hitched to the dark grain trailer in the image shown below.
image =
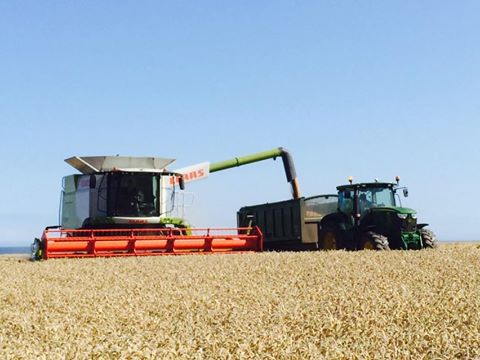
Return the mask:
<path id="1" fill-rule="evenodd" d="M 396 183 L 372 182 L 338 186 L 338 210 L 326 215 L 319 230 L 320 249 L 424 249 L 437 239 L 428 224 L 417 224 L 415 210 L 401 206 Z M 397 203 L 398 201 L 398 203 Z M 400 205 L 400 206 L 398 206 Z"/>

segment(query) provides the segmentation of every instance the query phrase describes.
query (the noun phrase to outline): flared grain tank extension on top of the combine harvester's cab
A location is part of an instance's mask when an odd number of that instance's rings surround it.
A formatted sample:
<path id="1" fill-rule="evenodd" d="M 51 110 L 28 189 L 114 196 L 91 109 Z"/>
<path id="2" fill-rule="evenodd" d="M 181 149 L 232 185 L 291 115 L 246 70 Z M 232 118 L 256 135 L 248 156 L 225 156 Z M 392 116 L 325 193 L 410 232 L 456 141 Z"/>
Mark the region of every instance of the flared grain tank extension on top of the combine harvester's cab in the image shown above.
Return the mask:
<path id="1" fill-rule="evenodd" d="M 175 159 L 132 156 L 73 156 L 65 162 L 82 174 L 108 171 L 162 172 Z"/>

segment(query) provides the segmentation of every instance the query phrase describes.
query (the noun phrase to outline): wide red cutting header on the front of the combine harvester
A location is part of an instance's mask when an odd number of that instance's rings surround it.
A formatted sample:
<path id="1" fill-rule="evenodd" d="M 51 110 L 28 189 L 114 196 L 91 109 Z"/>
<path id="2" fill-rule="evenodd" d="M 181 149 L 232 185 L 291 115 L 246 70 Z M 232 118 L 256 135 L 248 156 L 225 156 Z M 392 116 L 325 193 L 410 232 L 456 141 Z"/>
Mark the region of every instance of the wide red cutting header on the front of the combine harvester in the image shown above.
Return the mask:
<path id="1" fill-rule="evenodd" d="M 109 257 L 259 252 L 258 227 L 221 229 L 46 229 L 41 257 Z"/>

